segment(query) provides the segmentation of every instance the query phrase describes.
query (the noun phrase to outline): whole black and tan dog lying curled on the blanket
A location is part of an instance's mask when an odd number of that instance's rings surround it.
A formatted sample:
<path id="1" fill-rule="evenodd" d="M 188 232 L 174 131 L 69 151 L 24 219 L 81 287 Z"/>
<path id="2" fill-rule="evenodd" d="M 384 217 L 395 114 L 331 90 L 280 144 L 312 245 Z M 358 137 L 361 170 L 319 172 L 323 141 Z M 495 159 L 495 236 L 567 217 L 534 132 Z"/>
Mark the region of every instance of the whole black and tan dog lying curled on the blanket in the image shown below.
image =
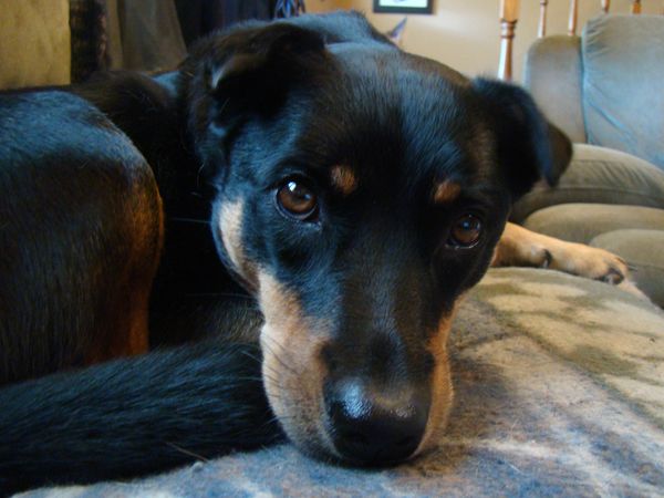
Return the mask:
<path id="1" fill-rule="evenodd" d="M 0 127 L 3 492 L 281 429 L 353 465 L 405 460 L 445 427 L 450 322 L 492 260 L 625 274 L 505 230 L 570 159 L 523 91 L 357 14 L 245 24 L 155 79 L 7 93 Z"/>

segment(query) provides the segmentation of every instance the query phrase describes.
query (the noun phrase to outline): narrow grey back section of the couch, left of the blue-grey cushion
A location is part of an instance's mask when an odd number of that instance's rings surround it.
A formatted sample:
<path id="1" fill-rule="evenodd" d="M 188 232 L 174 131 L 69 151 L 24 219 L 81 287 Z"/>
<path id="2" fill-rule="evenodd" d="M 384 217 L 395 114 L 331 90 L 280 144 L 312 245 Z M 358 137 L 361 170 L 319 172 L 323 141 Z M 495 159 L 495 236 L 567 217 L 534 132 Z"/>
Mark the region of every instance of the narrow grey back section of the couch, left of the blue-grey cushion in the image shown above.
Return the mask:
<path id="1" fill-rule="evenodd" d="M 554 35 L 537 40 L 526 54 L 523 83 L 544 115 L 572 142 L 585 142 L 581 105 L 581 41 Z"/>

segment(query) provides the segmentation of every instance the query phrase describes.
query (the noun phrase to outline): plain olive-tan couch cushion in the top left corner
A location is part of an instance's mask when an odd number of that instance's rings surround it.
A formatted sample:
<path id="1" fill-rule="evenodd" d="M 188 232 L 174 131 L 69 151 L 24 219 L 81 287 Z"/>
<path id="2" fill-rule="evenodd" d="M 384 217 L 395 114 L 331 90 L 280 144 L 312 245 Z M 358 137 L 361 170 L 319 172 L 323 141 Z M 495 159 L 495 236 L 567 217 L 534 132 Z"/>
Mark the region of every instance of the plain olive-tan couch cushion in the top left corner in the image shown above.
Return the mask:
<path id="1" fill-rule="evenodd" d="M 0 89 L 69 83 L 69 1 L 1 3 Z"/>

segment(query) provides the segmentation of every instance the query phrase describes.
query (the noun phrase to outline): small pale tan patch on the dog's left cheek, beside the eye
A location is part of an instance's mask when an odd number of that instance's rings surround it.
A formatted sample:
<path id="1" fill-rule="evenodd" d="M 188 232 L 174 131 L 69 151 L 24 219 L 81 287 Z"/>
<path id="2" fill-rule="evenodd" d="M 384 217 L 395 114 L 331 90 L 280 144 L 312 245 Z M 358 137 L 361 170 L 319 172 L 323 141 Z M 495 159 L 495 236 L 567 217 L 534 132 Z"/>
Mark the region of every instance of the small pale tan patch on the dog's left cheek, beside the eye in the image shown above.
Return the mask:
<path id="1" fill-rule="evenodd" d="M 219 216 L 218 229 L 235 271 L 255 289 L 257 286 L 256 264 L 246 258 L 242 250 L 243 207 L 242 199 L 224 203 Z"/>

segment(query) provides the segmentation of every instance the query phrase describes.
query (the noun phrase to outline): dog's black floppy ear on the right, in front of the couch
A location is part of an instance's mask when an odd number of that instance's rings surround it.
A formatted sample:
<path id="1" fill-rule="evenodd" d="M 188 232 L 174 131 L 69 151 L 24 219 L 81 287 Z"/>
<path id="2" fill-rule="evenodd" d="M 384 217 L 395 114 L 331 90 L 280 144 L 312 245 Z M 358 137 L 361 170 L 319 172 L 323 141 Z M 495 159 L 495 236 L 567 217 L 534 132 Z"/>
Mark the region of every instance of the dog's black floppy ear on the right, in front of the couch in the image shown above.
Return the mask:
<path id="1" fill-rule="evenodd" d="M 525 90 L 484 79 L 475 80 L 473 86 L 489 110 L 498 158 L 513 199 L 542 177 L 556 185 L 572 157 L 564 133 L 546 120 Z"/>

